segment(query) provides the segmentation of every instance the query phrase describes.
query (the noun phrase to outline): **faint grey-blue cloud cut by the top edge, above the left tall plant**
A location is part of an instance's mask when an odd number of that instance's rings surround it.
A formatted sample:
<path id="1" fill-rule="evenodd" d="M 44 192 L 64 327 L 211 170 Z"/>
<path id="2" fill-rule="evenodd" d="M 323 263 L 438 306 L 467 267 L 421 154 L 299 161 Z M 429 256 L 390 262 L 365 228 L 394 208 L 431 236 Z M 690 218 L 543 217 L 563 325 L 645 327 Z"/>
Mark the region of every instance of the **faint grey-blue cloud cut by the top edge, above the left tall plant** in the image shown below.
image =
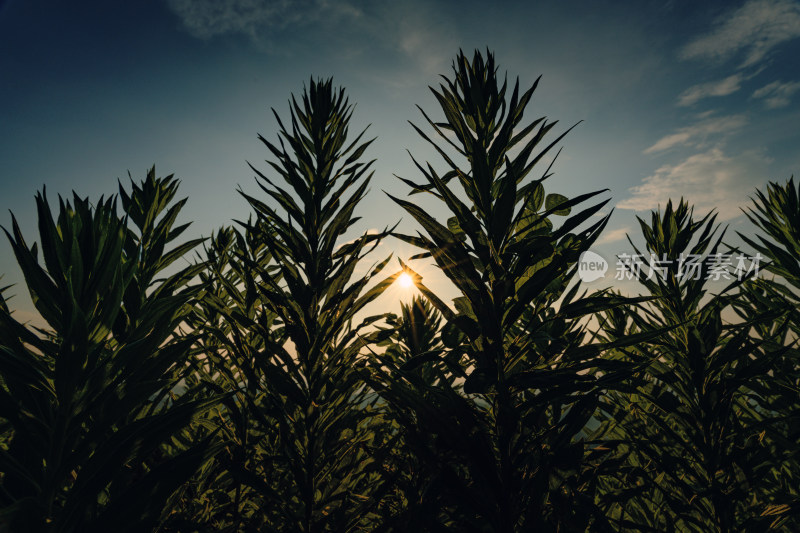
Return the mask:
<path id="1" fill-rule="evenodd" d="M 257 40 L 265 30 L 361 14 L 347 2 L 329 0 L 167 0 L 167 5 L 201 39 L 239 33 Z"/>

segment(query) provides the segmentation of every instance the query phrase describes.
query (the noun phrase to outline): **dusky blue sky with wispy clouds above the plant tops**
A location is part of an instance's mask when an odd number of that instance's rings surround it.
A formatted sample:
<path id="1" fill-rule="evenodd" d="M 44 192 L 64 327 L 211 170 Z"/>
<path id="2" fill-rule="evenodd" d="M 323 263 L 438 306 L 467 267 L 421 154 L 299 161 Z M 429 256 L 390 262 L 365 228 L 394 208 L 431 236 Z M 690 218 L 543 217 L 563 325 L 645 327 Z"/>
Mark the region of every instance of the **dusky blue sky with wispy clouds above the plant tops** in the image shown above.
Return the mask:
<path id="1" fill-rule="evenodd" d="M 246 219 L 237 190 L 259 192 L 247 162 L 267 170 L 270 109 L 287 116 L 310 77 L 333 76 L 352 131 L 377 137 L 356 229 L 415 231 L 385 192 L 420 179 L 408 152 L 442 165 L 408 121 L 422 124 L 417 105 L 441 116 L 428 86 L 476 48 L 524 87 L 542 76 L 529 119 L 580 122 L 546 189 L 609 189 L 594 250 L 610 261 L 631 250 L 635 215 L 670 198 L 751 232 L 741 207 L 800 169 L 800 1 L 0 0 L 0 225 L 12 211 L 30 243 L 42 187 L 97 199 L 152 165 L 181 180 L 188 236 Z M 0 274 L 24 318 L 4 236 Z"/>

